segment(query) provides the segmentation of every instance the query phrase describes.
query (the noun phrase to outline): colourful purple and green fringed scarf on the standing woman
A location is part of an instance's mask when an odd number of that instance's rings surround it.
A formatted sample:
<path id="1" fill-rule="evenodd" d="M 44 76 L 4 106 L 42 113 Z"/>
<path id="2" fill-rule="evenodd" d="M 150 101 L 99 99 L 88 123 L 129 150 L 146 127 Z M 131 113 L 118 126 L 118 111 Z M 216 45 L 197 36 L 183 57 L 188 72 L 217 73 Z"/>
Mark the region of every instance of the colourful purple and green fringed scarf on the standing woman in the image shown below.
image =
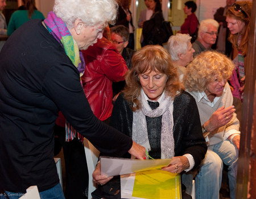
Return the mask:
<path id="1" fill-rule="evenodd" d="M 71 59 L 72 63 L 79 71 L 81 78 L 85 71 L 84 56 L 82 56 L 82 52 L 79 51 L 79 47 L 69 32 L 66 24 L 63 20 L 57 18 L 52 11 L 49 12 L 47 18 L 44 19 L 44 24 L 46 24 L 49 33 L 51 33 L 64 48 L 66 55 Z M 66 141 L 69 142 L 69 140 L 73 140 L 73 138 L 83 140 L 83 136 L 80 135 L 68 121 L 66 121 Z"/>

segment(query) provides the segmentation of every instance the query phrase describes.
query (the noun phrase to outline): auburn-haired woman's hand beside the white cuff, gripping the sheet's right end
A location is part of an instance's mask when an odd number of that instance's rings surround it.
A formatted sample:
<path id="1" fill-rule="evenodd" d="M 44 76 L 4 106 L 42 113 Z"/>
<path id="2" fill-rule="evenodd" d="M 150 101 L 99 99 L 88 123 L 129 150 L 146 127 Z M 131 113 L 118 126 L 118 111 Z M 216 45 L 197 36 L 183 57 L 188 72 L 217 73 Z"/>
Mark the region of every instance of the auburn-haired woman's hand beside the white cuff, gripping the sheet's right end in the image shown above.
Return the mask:
<path id="1" fill-rule="evenodd" d="M 172 157 L 171 163 L 168 165 L 168 167 L 163 167 L 163 171 L 169 171 L 171 173 L 181 173 L 185 169 L 189 167 L 189 161 L 187 157 L 185 156 L 177 156 L 177 157 Z"/>

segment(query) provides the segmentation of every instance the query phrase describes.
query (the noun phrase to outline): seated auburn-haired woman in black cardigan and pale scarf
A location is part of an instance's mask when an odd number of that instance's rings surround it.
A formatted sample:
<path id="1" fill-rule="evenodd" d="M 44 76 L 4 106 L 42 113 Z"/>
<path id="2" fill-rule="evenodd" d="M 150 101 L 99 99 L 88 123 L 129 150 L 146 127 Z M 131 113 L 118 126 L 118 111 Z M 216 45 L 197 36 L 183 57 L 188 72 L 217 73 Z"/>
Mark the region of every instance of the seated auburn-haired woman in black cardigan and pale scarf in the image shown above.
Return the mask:
<path id="1" fill-rule="evenodd" d="M 115 102 L 110 121 L 110 126 L 142 144 L 154 159 L 172 158 L 162 168 L 171 173 L 195 169 L 207 151 L 195 99 L 183 90 L 176 71 L 160 45 L 141 48 L 133 56 L 127 86 Z M 93 178 L 103 185 L 112 179 L 100 175 L 100 163 Z"/>

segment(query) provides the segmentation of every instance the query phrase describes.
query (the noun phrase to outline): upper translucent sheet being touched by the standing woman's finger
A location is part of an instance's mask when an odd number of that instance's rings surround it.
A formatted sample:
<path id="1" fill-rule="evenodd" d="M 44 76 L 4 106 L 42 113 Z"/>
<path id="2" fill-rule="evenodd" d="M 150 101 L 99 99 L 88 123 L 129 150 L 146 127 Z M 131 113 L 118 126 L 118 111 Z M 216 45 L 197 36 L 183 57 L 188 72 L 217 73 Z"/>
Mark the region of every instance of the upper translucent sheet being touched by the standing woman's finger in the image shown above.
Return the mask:
<path id="1" fill-rule="evenodd" d="M 166 167 L 172 159 L 138 160 L 101 156 L 101 175 L 117 176 Z"/>

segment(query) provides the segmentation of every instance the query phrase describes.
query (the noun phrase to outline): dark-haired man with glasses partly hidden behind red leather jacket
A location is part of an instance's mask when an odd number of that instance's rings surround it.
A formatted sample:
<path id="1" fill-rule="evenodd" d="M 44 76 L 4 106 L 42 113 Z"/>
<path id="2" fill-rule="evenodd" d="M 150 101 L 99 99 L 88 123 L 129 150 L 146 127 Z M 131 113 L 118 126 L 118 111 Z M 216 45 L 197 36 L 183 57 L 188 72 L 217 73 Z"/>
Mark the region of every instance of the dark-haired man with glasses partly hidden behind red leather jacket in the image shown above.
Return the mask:
<path id="1" fill-rule="evenodd" d="M 123 25 L 114 26 L 110 28 L 110 34 L 113 44 L 122 55 L 123 59 L 125 59 L 128 69 L 131 69 L 133 67 L 131 64 L 131 57 L 133 57 L 135 51 L 133 49 L 126 48 L 129 42 L 129 29 Z M 121 92 L 124 87 L 125 81 L 113 82 L 113 97 Z"/>

